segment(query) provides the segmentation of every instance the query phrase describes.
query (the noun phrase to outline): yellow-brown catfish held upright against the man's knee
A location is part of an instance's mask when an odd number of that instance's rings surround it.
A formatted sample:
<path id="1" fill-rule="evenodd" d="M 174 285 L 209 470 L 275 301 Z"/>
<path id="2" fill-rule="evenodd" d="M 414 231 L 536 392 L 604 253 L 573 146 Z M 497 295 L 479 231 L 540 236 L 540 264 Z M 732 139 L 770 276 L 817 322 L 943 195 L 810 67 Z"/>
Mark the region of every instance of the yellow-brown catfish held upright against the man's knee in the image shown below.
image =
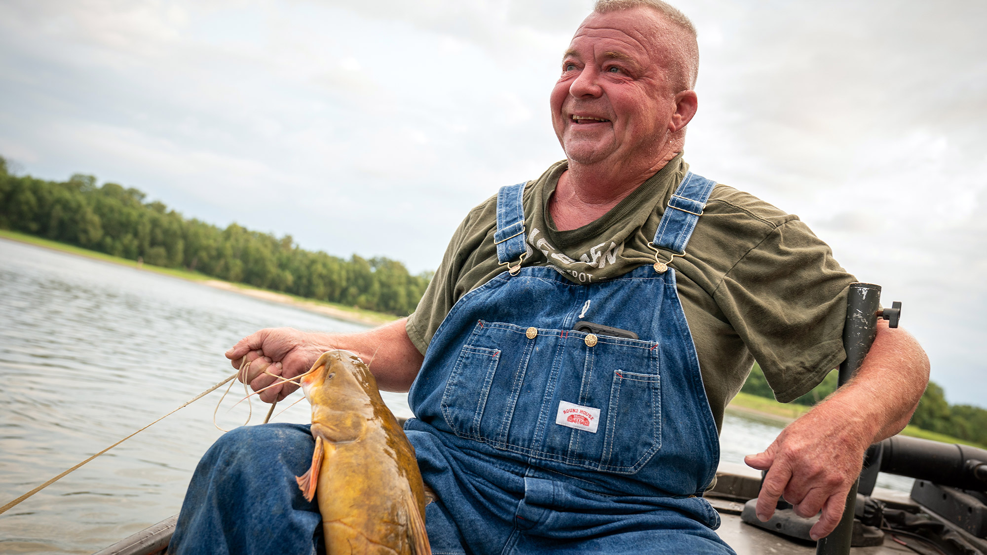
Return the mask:
<path id="1" fill-rule="evenodd" d="M 363 360 L 330 351 L 301 382 L 316 450 L 298 486 L 318 496 L 326 553 L 431 553 L 415 448 Z"/>

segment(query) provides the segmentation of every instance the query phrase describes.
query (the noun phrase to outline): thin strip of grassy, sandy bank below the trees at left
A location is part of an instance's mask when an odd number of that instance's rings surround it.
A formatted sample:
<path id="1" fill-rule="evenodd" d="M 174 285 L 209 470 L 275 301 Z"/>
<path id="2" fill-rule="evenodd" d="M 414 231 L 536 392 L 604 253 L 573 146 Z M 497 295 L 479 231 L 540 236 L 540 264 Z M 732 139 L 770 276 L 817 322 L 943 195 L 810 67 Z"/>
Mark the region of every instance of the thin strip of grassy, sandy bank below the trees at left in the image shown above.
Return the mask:
<path id="1" fill-rule="evenodd" d="M 0 238 L 10 239 L 12 241 L 18 241 L 21 243 L 27 243 L 29 245 L 36 245 L 38 247 L 44 247 L 47 249 L 52 249 L 63 253 L 90 258 L 93 260 L 118 264 L 120 266 L 127 266 L 145 272 L 154 272 L 156 274 L 161 274 L 164 276 L 171 276 L 172 278 L 188 279 L 190 281 L 196 281 L 202 283 L 203 285 L 208 285 L 211 287 L 215 287 L 217 289 L 233 291 L 233 292 L 245 294 L 247 296 L 252 296 L 254 298 L 267 300 L 270 302 L 289 304 L 301 308 L 303 310 L 318 312 L 320 314 L 325 314 L 327 316 L 337 318 L 339 320 L 345 320 L 348 322 L 356 322 L 358 324 L 377 326 L 380 324 L 386 324 L 387 322 L 393 322 L 394 320 L 397 319 L 397 317 L 394 316 L 393 314 L 384 314 L 381 312 L 374 312 L 372 310 L 363 310 L 361 308 L 355 308 L 352 306 L 345 306 L 342 304 L 337 304 L 332 302 L 325 302 L 321 300 L 304 298 L 296 295 L 282 293 L 279 291 L 269 291 L 266 289 L 259 289 L 257 287 L 252 287 L 250 285 L 245 285 L 243 283 L 233 283 L 230 281 L 223 281 L 222 279 L 210 278 L 208 276 L 199 274 L 197 272 L 190 272 L 188 270 L 161 268 L 159 266 L 152 266 L 150 264 L 140 264 L 138 262 L 129 259 L 114 257 L 113 255 L 99 253 L 96 251 L 90 251 L 89 249 L 83 249 L 82 247 L 76 247 L 74 245 L 59 243 L 58 241 L 42 239 L 34 235 L 19 233 L 17 231 L 0 229 Z"/>

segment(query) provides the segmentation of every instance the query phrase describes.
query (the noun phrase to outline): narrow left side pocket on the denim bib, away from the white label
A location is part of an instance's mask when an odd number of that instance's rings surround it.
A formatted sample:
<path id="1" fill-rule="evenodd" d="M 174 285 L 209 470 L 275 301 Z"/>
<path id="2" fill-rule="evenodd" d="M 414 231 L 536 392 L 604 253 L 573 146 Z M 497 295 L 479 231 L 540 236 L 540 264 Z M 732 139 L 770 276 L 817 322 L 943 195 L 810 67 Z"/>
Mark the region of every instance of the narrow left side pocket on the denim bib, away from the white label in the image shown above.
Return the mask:
<path id="1" fill-rule="evenodd" d="M 463 346 L 442 393 L 442 415 L 457 436 L 483 440 L 480 421 L 491 392 L 500 351 Z"/>

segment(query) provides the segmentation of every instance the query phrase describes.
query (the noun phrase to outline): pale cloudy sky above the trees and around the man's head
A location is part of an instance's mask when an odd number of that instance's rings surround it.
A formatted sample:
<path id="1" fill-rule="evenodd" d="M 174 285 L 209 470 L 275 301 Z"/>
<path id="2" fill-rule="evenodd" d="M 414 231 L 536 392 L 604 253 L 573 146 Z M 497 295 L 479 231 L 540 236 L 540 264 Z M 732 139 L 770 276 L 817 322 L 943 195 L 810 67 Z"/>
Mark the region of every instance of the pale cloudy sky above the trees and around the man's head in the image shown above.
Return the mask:
<path id="1" fill-rule="evenodd" d="M 798 214 L 987 408 L 987 3 L 675 5 L 692 169 Z M 472 206 L 564 158 L 549 92 L 590 7 L 0 0 L 0 156 L 434 270 Z"/>

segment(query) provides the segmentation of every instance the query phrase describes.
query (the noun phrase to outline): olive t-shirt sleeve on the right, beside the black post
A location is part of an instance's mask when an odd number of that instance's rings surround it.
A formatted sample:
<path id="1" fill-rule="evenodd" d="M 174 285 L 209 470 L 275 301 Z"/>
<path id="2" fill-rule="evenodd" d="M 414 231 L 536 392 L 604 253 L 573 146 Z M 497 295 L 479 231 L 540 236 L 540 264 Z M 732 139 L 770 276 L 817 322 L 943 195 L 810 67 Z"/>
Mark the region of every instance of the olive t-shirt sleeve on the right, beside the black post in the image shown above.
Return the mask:
<path id="1" fill-rule="evenodd" d="M 811 390 L 846 357 L 843 324 L 854 281 L 798 219 L 771 230 L 723 277 L 716 301 L 780 402 Z"/>

